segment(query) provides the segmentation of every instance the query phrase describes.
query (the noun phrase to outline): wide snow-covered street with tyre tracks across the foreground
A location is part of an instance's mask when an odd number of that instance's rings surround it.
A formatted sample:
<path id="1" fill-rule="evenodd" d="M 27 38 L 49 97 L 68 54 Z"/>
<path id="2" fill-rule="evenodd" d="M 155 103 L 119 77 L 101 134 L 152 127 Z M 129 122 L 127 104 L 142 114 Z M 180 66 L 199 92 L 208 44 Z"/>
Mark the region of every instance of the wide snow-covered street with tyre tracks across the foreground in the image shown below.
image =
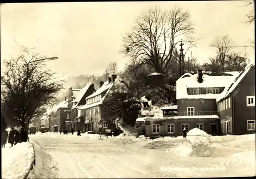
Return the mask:
<path id="1" fill-rule="evenodd" d="M 50 132 L 38 133 L 30 136 L 36 153 L 34 176 L 30 177 L 255 175 L 255 134 L 208 137 L 208 143 L 205 139 L 198 140 L 199 138 L 205 137 L 145 140 L 132 136 L 106 139 L 99 138 L 98 135 L 78 137 Z"/>

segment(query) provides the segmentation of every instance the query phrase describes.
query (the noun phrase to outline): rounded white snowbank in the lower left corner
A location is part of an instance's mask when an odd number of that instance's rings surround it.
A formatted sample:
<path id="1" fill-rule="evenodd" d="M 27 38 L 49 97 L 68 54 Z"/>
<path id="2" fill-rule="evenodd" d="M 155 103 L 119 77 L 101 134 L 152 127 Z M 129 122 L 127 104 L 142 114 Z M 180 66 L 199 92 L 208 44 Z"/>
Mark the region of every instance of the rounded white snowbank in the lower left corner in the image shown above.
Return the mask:
<path id="1" fill-rule="evenodd" d="M 2 148 L 2 178 L 24 178 L 34 160 L 33 146 L 29 142 Z"/>

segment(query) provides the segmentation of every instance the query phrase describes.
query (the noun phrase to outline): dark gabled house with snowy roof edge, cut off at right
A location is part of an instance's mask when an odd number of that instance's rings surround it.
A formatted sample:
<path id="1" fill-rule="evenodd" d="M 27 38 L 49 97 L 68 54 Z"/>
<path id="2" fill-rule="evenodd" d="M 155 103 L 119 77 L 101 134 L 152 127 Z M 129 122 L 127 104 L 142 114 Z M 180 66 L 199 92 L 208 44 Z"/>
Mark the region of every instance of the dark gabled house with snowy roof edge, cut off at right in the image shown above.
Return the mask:
<path id="1" fill-rule="evenodd" d="M 255 133 L 255 65 L 248 64 L 216 101 L 224 135 Z"/>

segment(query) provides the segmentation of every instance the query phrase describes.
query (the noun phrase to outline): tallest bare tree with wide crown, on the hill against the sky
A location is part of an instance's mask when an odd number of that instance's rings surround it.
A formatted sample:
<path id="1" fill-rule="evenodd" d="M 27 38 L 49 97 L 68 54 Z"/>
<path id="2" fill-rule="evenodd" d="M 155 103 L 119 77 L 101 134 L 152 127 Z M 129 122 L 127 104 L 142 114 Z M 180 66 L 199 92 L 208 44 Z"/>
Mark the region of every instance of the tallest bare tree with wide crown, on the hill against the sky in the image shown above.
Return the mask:
<path id="1" fill-rule="evenodd" d="M 188 11 L 151 8 L 136 20 L 131 33 L 123 38 L 121 53 L 130 56 L 134 66 L 151 65 L 157 73 L 167 73 L 176 44 L 193 44 L 194 25 Z"/>

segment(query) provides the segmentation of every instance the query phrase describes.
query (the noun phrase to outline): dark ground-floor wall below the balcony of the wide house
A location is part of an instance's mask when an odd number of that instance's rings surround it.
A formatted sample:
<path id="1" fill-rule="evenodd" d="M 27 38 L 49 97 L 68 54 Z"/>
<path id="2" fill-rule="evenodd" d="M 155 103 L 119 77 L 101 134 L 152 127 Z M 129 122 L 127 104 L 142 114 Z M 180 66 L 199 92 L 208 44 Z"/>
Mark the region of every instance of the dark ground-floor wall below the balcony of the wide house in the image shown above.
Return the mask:
<path id="1" fill-rule="evenodd" d="M 150 121 L 150 125 L 145 125 L 146 136 L 182 136 L 182 124 L 188 124 L 188 131 L 196 127 L 196 124 L 203 124 L 203 130 L 211 135 L 219 135 L 219 123 L 220 119 L 170 119 L 167 122 L 163 122 L 160 125 L 160 133 L 153 133 L 153 125 L 157 124 L 157 121 Z M 174 124 L 174 133 L 167 133 L 167 124 Z M 217 133 L 212 133 L 210 130 L 211 124 L 217 124 Z M 187 131 L 187 132 L 188 132 Z"/>

